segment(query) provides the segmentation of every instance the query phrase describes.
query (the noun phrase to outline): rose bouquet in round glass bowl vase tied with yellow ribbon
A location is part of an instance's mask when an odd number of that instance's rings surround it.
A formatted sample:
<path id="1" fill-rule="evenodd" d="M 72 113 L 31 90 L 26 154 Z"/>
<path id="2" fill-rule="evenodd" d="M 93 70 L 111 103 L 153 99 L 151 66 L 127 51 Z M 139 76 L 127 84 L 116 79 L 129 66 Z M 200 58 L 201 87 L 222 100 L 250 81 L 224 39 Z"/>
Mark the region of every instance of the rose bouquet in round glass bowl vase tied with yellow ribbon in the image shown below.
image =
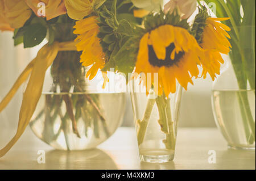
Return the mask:
<path id="1" fill-rule="evenodd" d="M 1 112 L 20 85 L 30 78 L 17 133 L 0 151 L 0 156 L 14 145 L 28 124 L 41 140 L 61 150 L 94 148 L 121 124 L 125 95 L 97 91 L 90 79 L 98 69 L 80 63 L 82 53 L 77 50 L 77 36 L 73 33 L 76 21 L 90 14 L 96 4 L 96 1 L 0 1 L 0 30 L 14 32 L 14 45 L 23 43 L 24 48 L 30 48 L 44 39 L 48 41 L 0 104 Z M 86 78 L 86 73 L 94 75 Z"/>

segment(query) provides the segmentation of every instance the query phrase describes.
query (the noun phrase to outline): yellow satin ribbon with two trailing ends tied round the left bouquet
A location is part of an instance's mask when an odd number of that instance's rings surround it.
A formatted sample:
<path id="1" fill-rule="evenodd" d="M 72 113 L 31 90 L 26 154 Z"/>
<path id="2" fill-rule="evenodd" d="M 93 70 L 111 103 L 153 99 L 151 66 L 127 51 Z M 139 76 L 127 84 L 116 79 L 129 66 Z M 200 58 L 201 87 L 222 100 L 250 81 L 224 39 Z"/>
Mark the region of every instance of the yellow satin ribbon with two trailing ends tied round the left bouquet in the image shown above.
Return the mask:
<path id="1" fill-rule="evenodd" d="M 3 157 L 3 155 L 13 147 L 16 141 L 19 140 L 20 136 L 22 136 L 27 125 L 30 123 L 30 119 L 42 94 L 46 70 L 55 60 L 59 51 L 67 50 L 77 50 L 73 41 L 63 43 L 55 42 L 52 45 L 44 45 L 44 47 L 39 50 L 36 58 L 32 60 L 22 74 L 20 74 L 14 86 L 0 103 L 1 112 L 30 75 L 27 88 L 23 94 L 22 106 L 20 107 L 18 129 L 13 139 L 11 139 L 5 148 L 0 150 L 0 157 Z"/>

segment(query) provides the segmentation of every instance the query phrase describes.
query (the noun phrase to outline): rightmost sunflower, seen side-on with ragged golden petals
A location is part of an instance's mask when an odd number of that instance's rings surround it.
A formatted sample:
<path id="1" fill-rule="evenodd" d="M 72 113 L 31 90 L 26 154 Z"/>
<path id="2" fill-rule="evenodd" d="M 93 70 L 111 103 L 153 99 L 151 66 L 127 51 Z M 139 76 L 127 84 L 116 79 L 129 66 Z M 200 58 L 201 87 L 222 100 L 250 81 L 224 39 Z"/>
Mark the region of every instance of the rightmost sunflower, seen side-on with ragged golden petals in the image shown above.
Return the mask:
<path id="1" fill-rule="evenodd" d="M 228 20 L 229 18 L 207 18 L 202 34 L 200 46 L 205 50 L 205 61 L 202 60 L 203 77 L 207 73 L 214 80 L 216 74 L 220 74 L 220 66 L 224 63 L 221 53 L 228 54 L 231 48 L 229 43 L 230 36 L 226 31 L 230 28 L 218 21 Z"/>

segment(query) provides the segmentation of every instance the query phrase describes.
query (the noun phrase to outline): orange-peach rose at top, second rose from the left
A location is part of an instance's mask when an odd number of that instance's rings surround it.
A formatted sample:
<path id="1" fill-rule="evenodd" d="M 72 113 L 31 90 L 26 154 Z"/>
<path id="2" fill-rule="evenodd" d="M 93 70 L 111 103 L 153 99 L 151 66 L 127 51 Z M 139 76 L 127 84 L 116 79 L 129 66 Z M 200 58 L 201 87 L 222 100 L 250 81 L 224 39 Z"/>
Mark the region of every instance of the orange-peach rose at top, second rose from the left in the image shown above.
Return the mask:
<path id="1" fill-rule="evenodd" d="M 25 0 L 27 5 L 34 11 L 36 15 L 38 15 L 38 4 L 43 2 L 46 5 L 46 14 L 43 17 L 46 17 L 47 20 L 55 18 L 59 15 L 63 15 L 67 13 L 67 9 L 65 8 L 64 0 Z M 38 15 L 42 16 L 42 15 Z"/>

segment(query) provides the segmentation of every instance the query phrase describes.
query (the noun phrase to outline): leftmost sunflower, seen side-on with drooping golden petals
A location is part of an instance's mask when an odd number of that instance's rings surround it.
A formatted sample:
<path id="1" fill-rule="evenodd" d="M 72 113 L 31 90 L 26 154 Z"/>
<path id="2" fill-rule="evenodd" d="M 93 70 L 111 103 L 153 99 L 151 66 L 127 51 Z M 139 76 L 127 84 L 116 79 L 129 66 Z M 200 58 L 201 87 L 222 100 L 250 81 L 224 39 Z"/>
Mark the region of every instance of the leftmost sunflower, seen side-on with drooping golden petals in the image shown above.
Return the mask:
<path id="1" fill-rule="evenodd" d="M 97 16 L 90 16 L 89 18 L 82 19 L 76 22 L 73 33 L 77 35 L 75 41 L 78 51 L 82 51 L 81 60 L 83 66 L 91 66 L 87 71 L 86 77 L 93 79 L 98 70 L 104 68 L 105 53 L 100 44 L 100 38 L 97 37 L 100 27 L 98 26 Z M 105 72 L 102 72 L 105 83 L 109 82 Z"/>

